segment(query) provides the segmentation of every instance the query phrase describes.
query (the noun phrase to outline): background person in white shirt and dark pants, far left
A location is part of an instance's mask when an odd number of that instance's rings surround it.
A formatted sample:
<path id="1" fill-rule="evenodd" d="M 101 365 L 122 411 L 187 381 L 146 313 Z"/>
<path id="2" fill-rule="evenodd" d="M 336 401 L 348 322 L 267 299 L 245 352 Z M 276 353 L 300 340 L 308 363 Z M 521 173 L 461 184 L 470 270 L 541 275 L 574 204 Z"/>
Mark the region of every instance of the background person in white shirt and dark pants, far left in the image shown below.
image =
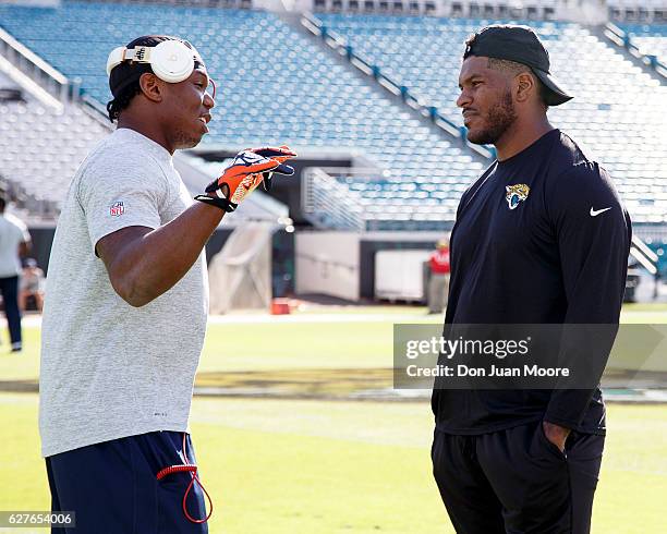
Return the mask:
<path id="1" fill-rule="evenodd" d="M 12 352 L 23 348 L 21 339 L 21 312 L 19 310 L 19 277 L 21 257 L 28 253 L 31 234 L 17 217 L 5 214 L 8 199 L 0 193 L 0 292 L 10 331 Z"/>

